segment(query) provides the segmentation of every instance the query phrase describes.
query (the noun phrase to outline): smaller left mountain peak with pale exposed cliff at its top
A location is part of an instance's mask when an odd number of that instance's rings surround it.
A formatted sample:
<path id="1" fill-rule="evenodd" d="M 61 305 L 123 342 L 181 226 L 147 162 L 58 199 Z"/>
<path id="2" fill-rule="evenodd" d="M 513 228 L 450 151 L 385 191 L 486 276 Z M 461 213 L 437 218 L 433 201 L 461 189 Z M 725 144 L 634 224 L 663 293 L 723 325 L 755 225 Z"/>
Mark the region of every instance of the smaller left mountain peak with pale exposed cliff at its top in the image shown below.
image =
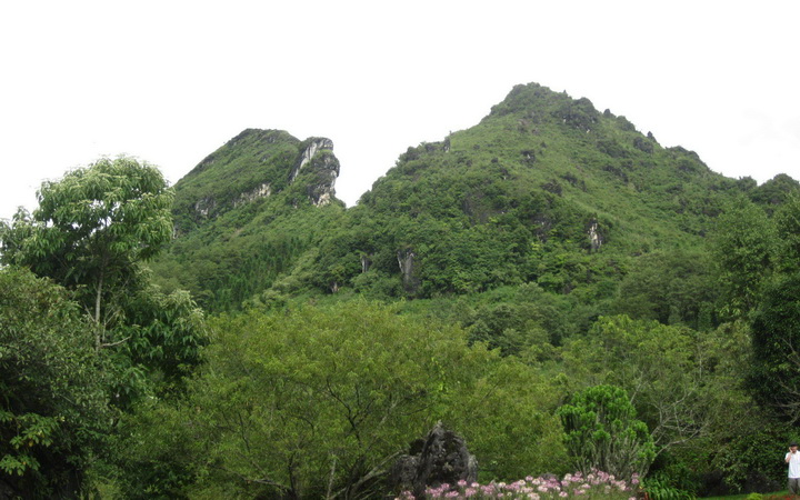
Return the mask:
<path id="1" fill-rule="evenodd" d="M 324 138 L 244 130 L 176 184 L 176 239 L 152 263 L 169 289 L 223 310 L 269 288 L 343 214 Z"/>

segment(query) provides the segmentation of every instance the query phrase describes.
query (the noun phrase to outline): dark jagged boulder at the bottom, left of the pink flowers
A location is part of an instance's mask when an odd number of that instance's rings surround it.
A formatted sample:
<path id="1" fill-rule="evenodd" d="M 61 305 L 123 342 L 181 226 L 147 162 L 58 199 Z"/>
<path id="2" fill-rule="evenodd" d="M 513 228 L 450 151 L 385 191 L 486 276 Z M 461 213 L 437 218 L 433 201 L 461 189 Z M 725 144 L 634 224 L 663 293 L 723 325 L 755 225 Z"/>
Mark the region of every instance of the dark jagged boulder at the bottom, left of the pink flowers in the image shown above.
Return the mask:
<path id="1" fill-rule="evenodd" d="M 394 462 L 392 487 L 397 492 L 412 491 L 424 498 L 427 487 L 456 484 L 460 480 L 473 482 L 478 478 L 478 461 L 470 454 L 463 438 L 438 422 L 424 440 L 411 446 L 410 454 Z"/>

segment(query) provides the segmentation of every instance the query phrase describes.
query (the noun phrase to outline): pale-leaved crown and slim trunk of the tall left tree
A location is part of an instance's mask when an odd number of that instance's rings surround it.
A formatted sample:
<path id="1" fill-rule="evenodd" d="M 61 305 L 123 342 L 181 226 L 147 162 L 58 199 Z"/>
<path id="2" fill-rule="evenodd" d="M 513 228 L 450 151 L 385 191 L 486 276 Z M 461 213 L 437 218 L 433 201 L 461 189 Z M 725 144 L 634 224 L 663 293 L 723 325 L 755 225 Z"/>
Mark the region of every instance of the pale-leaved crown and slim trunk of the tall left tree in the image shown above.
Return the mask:
<path id="1" fill-rule="evenodd" d="M 172 234 L 172 191 L 161 172 L 132 158 L 104 158 L 42 183 L 39 208 L 7 224 L 2 261 L 78 291 L 94 323 L 99 350 L 126 339 L 109 338 L 117 306 L 138 278 L 138 263 Z"/>

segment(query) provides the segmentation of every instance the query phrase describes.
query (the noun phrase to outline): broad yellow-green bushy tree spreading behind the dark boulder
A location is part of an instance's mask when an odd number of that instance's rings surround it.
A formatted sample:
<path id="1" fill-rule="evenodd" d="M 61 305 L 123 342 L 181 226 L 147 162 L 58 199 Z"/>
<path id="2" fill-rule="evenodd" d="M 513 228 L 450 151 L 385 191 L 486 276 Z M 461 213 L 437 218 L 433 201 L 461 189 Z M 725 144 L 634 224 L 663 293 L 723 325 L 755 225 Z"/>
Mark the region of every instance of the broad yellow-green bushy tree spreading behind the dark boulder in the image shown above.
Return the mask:
<path id="1" fill-rule="evenodd" d="M 150 466 L 194 470 L 197 484 L 183 491 L 373 496 L 394 458 L 438 419 L 454 422 L 496 476 L 557 463 L 558 454 L 541 454 L 557 450 L 560 436 L 547 386 L 522 364 L 467 347 L 457 328 L 367 302 L 250 311 L 213 327 L 217 340 L 189 399 L 147 410 L 148 421 L 151 412 L 173 416 L 160 429 L 136 426 L 144 446 L 131 447 L 147 474 Z M 166 457 L 157 437 L 172 426 L 197 443 L 189 464 L 150 460 Z"/>

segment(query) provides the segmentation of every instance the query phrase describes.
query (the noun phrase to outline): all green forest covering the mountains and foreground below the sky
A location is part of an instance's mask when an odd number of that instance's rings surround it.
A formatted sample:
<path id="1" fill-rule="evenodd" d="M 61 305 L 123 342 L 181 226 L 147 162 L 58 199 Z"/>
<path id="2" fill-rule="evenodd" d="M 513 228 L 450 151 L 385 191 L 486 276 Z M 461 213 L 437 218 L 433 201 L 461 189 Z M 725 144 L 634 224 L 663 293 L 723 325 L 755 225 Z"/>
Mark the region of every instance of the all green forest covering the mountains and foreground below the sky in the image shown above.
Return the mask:
<path id="1" fill-rule="evenodd" d="M 171 188 L 126 157 L 42 184 L 0 226 L 0 498 L 391 498 L 437 422 L 481 482 L 782 488 L 796 180 L 534 83 L 354 207 L 339 170 L 248 129 Z"/>

